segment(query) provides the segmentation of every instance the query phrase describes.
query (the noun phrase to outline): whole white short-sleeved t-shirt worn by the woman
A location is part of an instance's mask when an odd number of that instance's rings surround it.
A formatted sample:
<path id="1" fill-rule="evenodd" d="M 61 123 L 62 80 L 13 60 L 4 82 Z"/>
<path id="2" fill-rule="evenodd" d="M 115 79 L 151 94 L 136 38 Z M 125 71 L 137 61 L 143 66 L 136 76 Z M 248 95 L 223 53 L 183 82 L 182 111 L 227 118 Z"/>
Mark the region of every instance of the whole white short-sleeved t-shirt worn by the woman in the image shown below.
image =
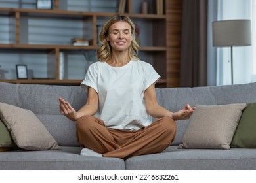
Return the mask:
<path id="1" fill-rule="evenodd" d="M 81 86 L 90 86 L 98 93 L 96 116 L 106 127 L 134 131 L 152 123 L 146 112 L 144 91 L 159 78 L 152 65 L 144 61 L 131 60 L 123 67 L 98 61 L 90 65 Z"/>

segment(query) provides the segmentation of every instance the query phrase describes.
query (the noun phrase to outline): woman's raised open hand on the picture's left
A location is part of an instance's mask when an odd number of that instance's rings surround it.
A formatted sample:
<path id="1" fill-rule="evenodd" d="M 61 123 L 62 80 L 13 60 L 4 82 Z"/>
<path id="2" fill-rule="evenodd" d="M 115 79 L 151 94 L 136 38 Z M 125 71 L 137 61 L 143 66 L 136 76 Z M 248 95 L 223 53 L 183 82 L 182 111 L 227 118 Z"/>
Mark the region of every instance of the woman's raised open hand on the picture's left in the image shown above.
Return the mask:
<path id="1" fill-rule="evenodd" d="M 62 98 L 59 98 L 58 101 L 60 102 L 60 112 L 62 115 L 66 116 L 68 119 L 72 121 L 76 121 L 78 119 L 77 112 L 75 109 Z"/>

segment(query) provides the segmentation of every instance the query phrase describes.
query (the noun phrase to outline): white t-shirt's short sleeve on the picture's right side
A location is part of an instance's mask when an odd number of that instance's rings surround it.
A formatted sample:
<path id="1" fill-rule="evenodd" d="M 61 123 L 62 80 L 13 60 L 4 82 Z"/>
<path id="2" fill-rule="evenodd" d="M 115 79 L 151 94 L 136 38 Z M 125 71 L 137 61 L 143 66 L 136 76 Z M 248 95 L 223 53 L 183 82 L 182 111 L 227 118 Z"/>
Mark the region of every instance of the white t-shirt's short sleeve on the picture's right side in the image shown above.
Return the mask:
<path id="1" fill-rule="evenodd" d="M 160 79 L 160 75 L 156 72 L 156 70 L 150 65 L 150 63 L 144 63 L 144 90 L 146 90 L 150 85 L 158 82 Z"/>

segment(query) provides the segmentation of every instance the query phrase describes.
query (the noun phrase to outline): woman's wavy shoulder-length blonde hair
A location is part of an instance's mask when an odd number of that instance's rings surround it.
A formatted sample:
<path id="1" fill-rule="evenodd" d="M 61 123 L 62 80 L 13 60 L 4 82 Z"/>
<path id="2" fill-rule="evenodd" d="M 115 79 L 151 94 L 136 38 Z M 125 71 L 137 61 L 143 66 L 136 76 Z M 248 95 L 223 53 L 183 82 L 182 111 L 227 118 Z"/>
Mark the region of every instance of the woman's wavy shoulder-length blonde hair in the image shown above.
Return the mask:
<path id="1" fill-rule="evenodd" d="M 128 16 L 121 16 L 119 14 L 115 14 L 110 19 L 106 21 L 106 23 L 102 27 L 102 31 L 100 32 L 99 39 L 102 43 L 100 48 L 97 51 L 97 56 L 99 61 L 107 61 L 112 57 L 112 48 L 110 46 L 110 43 L 107 41 L 108 37 L 108 31 L 111 27 L 111 25 L 115 24 L 116 22 L 124 21 L 127 22 L 129 25 L 131 25 L 131 36 L 132 41 L 131 45 L 129 46 L 129 58 L 133 60 L 139 60 L 137 54 L 139 50 L 139 44 L 137 44 L 135 40 L 135 25 L 131 21 L 131 19 Z"/>

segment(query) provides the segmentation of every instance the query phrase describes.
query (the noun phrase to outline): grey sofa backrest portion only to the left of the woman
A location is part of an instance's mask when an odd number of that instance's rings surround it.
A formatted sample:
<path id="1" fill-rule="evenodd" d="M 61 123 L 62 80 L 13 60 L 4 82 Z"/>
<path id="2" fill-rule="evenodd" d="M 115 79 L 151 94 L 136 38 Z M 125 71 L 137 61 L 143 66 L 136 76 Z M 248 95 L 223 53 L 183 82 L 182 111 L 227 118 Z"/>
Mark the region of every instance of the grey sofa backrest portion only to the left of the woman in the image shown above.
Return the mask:
<path id="1" fill-rule="evenodd" d="M 85 104 L 86 96 L 80 86 L 0 82 L 0 102 L 32 110 L 60 146 L 79 144 L 75 136 L 75 122 L 60 114 L 58 98 L 69 101 L 78 110 Z"/>

